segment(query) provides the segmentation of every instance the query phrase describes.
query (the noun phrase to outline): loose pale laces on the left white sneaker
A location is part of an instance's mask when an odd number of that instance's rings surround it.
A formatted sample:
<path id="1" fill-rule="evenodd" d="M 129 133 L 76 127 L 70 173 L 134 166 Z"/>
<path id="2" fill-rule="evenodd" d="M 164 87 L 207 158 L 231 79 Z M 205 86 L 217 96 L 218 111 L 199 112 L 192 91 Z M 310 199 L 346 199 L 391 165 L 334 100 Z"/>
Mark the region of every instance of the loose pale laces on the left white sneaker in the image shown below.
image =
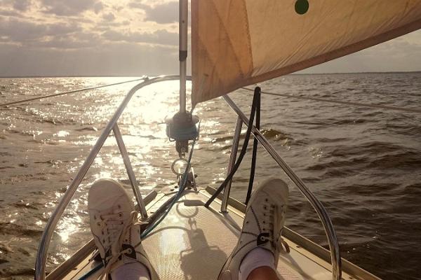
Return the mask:
<path id="1" fill-rule="evenodd" d="M 107 229 L 108 235 L 106 241 L 108 241 L 108 245 L 111 251 L 111 255 L 107 257 L 105 260 L 107 265 L 105 265 L 104 270 L 99 279 L 102 279 L 104 275 L 106 276 L 105 279 L 108 278 L 108 274 L 111 271 L 111 267 L 119 260 L 120 255 L 125 253 L 131 253 L 131 248 L 126 248 L 125 250 L 121 251 L 121 245 L 123 244 L 124 236 L 126 235 L 127 231 L 130 230 L 131 226 L 135 224 L 135 219 L 138 216 L 138 212 L 132 211 L 130 217 L 123 222 L 122 221 L 122 214 L 121 212 L 117 212 L 116 214 L 103 214 L 101 217 L 101 230 Z M 112 226 L 113 225 L 113 226 Z"/>

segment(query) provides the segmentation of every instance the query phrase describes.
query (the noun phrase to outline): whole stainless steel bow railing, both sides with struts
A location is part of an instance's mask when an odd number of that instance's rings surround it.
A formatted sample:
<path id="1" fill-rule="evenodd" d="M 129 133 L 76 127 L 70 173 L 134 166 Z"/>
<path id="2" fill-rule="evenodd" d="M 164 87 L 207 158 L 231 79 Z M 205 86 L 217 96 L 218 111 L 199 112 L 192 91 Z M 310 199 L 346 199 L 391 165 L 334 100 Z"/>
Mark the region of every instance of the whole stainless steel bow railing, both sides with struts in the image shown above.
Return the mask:
<path id="1" fill-rule="evenodd" d="M 123 113 L 124 109 L 126 109 L 128 102 L 130 102 L 135 92 L 140 90 L 142 87 L 151 85 L 152 83 L 163 82 L 166 80 L 178 80 L 179 78 L 180 78 L 179 76 L 161 76 L 161 77 L 145 80 L 144 82 L 138 85 L 135 85 L 135 87 L 133 87 L 130 90 L 130 92 L 128 92 L 126 97 L 123 99 L 123 102 L 121 102 L 120 106 L 118 107 L 114 115 L 112 116 L 111 120 L 109 121 L 105 129 L 102 131 L 102 134 L 96 141 L 95 145 L 93 146 L 91 153 L 89 153 L 88 155 L 88 158 L 86 158 L 85 162 L 83 162 L 81 169 L 79 169 L 79 172 L 76 174 L 76 176 L 72 180 L 72 183 L 70 183 L 69 188 L 67 188 L 66 193 L 63 195 L 62 199 L 60 200 L 58 207 L 55 209 L 51 218 L 48 220 L 46 228 L 41 237 L 41 241 L 39 243 L 38 252 L 36 254 L 35 280 L 45 279 L 48 246 L 51 242 L 51 237 L 53 235 L 53 232 L 58 224 L 58 221 L 60 221 L 60 218 L 62 217 L 62 214 L 65 211 L 67 205 L 72 200 L 74 193 L 76 192 L 81 181 L 83 180 L 84 176 L 88 172 L 88 169 L 91 167 L 93 161 L 98 155 L 98 152 L 102 148 L 102 145 L 104 144 L 105 140 L 107 139 L 107 137 L 109 136 L 112 130 L 114 131 L 114 137 L 116 138 L 117 145 L 119 146 L 119 150 L 121 152 L 121 156 L 123 157 L 124 165 L 126 166 L 126 171 L 128 173 L 129 180 L 131 181 L 133 193 L 135 194 L 136 201 L 138 202 L 140 214 L 142 218 L 147 218 L 145 203 L 143 202 L 142 196 L 140 195 L 138 183 L 135 179 L 135 174 L 131 167 L 131 162 L 128 158 L 128 153 L 126 151 L 126 146 L 123 143 L 123 139 L 121 137 L 121 133 L 117 125 L 117 120 L 119 120 L 121 113 Z M 187 80 L 191 80 L 191 77 L 187 76 Z M 245 123 L 246 125 L 248 125 L 248 118 L 239 109 L 239 107 L 236 106 L 236 104 L 232 101 L 232 99 L 227 97 L 227 95 L 225 95 L 224 98 L 225 98 L 225 101 L 228 103 L 228 105 L 238 115 L 238 119 L 236 123 L 236 132 L 234 133 L 234 145 L 232 148 L 232 155 L 229 160 L 230 166 L 232 168 L 232 165 L 234 164 L 235 158 L 236 158 L 236 150 L 239 144 L 239 137 L 240 137 L 242 123 Z M 266 151 L 270 155 L 272 155 L 272 158 L 274 158 L 274 160 L 283 169 L 286 175 L 295 183 L 296 186 L 298 186 L 301 193 L 306 197 L 306 199 L 312 205 L 316 213 L 319 215 L 319 218 L 321 219 L 321 222 L 323 224 L 323 228 L 325 229 L 326 235 L 328 237 L 328 244 L 330 247 L 330 256 L 332 260 L 333 279 L 339 280 L 342 274 L 339 244 L 338 244 L 338 239 L 335 234 L 335 230 L 333 229 L 332 222 L 330 221 L 330 218 L 326 212 L 326 209 L 323 207 L 321 202 L 317 200 L 317 198 L 310 192 L 307 186 L 305 186 L 305 183 L 302 182 L 302 180 L 298 178 L 298 176 L 293 172 L 292 169 L 290 169 L 290 167 L 286 164 L 286 162 L 282 160 L 281 156 L 278 153 L 276 153 L 275 149 L 269 144 L 269 141 L 267 141 L 267 139 L 262 135 L 262 133 L 258 129 L 256 129 L 254 126 L 252 127 L 252 133 L 255 135 L 256 139 L 258 139 L 260 144 L 262 144 L 262 146 L 266 149 Z M 231 186 L 230 183 L 227 184 L 227 187 L 224 190 L 224 197 L 222 200 L 222 208 L 221 208 L 222 211 L 227 211 L 227 201 L 229 197 L 230 186 Z"/>

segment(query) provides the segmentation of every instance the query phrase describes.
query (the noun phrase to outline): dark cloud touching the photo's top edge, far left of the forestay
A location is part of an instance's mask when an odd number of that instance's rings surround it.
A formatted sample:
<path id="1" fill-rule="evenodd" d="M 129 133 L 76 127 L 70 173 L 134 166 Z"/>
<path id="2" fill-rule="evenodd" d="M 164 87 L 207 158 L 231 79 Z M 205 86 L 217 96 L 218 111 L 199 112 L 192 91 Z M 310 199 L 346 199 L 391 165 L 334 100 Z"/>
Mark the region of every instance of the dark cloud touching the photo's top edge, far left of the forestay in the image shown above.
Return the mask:
<path id="1" fill-rule="evenodd" d="M 79 15 L 86 10 L 94 10 L 99 13 L 103 5 L 98 0 L 41 0 L 45 7 L 45 13 L 55 15 Z"/>

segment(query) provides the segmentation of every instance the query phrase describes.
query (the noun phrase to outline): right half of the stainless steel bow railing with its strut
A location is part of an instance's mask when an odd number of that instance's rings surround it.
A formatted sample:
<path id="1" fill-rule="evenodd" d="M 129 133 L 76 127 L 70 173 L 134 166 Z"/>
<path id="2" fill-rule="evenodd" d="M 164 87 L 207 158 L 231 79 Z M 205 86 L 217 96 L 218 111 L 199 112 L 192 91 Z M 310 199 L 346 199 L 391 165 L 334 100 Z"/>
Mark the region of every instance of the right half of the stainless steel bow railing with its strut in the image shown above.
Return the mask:
<path id="1" fill-rule="evenodd" d="M 239 120 L 242 123 L 248 125 L 248 118 L 244 113 L 239 109 L 238 106 L 229 98 L 227 95 L 223 96 L 227 104 L 235 111 L 238 115 L 238 120 L 236 123 L 236 132 L 234 133 L 234 140 L 233 140 L 233 150 L 238 148 L 238 139 L 239 139 L 239 132 L 241 132 L 241 125 L 239 125 Z M 332 274 L 333 280 L 340 280 L 342 276 L 342 262 L 340 258 L 340 251 L 339 251 L 339 243 L 338 238 L 336 237 L 335 229 L 333 228 L 332 221 L 328 216 L 326 209 L 323 207 L 323 204 L 314 196 L 314 194 L 305 186 L 305 183 L 293 172 L 286 162 L 284 162 L 281 156 L 276 153 L 276 150 L 269 144 L 269 141 L 263 136 L 262 132 L 258 130 L 254 125 L 251 129 L 251 132 L 254 134 L 255 138 L 258 139 L 260 144 L 265 148 L 265 150 L 272 156 L 272 158 L 276 161 L 276 163 L 283 169 L 283 172 L 288 176 L 288 178 L 295 183 L 295 186 L 298 187 L 302 195 L 308 200 L 308 202 L 312 205 L 314 210 L 316 211 L 317 215 L 319 215 L 320 221 L 323 224 L 323 228 L 326 232 L 326 237 L 328 238 L 328 244 L 330 248 L 330 259 L 332 262 Z M 232 157 L 234 157 L 235 161 L 235 154 L 231 154 L 231 158 L 229 162 L 231 163 Z M 230 166 L 230 165 L 229 165 Z M 229 189 L 231 188 L 231 184 L 227 184 L 224 190 L 224 195 L 221 204 L 221 211 L 227 211 L 227 200 L 229 197 Z"/>

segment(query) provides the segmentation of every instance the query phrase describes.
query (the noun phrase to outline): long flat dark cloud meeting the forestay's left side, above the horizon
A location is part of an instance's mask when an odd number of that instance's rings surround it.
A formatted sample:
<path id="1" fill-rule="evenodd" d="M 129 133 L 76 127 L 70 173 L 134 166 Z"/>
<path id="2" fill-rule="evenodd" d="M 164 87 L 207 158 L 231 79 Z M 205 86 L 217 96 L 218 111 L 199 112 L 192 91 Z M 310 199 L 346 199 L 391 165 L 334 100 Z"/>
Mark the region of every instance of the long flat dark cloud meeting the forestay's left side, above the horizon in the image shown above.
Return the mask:
<path id="1" fill-rule="evenodd" d="M 154 43 L 160 45 L 178 45 L 178 34 L 168 32 L 165 29 L 148 32 L 128 32 L 108 30 L 102 33 L 108 41 L 121 41 L 130 43 Z"/>

